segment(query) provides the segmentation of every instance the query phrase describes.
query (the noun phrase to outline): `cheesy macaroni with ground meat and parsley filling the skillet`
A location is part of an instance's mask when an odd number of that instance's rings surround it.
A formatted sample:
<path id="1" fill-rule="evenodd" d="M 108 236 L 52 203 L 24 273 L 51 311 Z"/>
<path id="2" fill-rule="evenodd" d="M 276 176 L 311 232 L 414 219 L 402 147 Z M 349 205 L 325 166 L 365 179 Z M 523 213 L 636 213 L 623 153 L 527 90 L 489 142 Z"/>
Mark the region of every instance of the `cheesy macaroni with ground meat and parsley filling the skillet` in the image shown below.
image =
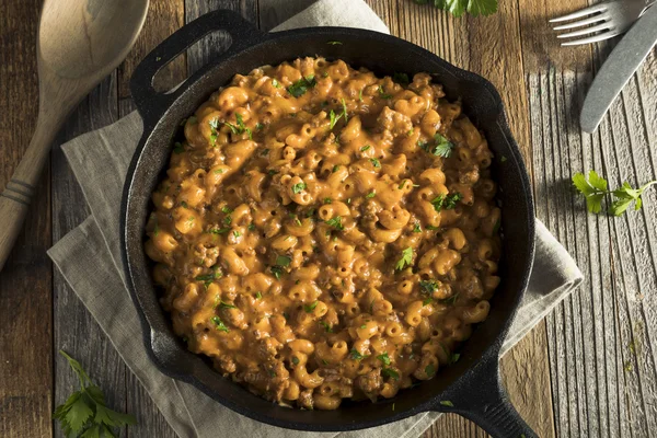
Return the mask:
<path id="1" fill-rule="evenodd" d="M 181 126 L 145 250 L 189 350 L 319 410 L 458 359 L 499 284 L 500 210 L 484 135 L 429 74 L 297 59 Z"/>

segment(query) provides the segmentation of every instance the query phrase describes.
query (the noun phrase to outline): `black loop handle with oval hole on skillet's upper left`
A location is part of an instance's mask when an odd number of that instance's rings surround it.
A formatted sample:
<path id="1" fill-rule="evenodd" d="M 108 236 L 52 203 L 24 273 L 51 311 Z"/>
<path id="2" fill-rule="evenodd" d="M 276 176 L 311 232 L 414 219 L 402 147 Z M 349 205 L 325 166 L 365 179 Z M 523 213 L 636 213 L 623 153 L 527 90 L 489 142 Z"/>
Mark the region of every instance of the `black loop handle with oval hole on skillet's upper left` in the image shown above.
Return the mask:
<path id="1" fill-rule="evenodd" d="M 244 20 L 239 13 L 230 10 L 208 12 L 174 32 L 139 62 L 130 78 L 132 101 L 137 105 L 145 126 L 154 126 L 164 111 L 177 97 L 177 90 L 170 93 L 155 91 L 153 78 L 158 71 L 198 39 L 214 31 L 226 31 L 231 42 L 228 49 L 210 64 L 212 66 L 261 42 L 267 35 Z M 210 65 L 206 68 L 209 68 Z M 200 74 L 206 68 L 195 73 L 195 76 Z"/>

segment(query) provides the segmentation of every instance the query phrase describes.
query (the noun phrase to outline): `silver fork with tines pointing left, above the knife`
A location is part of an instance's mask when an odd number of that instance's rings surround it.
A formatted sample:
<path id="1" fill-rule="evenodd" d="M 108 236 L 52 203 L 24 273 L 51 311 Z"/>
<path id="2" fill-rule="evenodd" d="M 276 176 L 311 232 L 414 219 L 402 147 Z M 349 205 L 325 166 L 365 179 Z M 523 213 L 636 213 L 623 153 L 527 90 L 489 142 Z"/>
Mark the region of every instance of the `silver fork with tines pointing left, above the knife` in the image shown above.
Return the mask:
<path id="1" fill-rule="evenodd" d="M 554 27 L 554 31 L 583 27 L 578 31 L 556 35 L 557 38 L 572 38 L 585 36 L 579 39 L 570 39 L 562 43 L 562 46 L 577 46 L 590 44 L 611 38 L 627 31 L 632 24 L 643 15 L 655 0 L 616 0 L 593 4 L 590 8 L 573 12 L 570 14 L 550 20 L 550 23 L 561 23 L 576 19 L 572 23 Z"/>

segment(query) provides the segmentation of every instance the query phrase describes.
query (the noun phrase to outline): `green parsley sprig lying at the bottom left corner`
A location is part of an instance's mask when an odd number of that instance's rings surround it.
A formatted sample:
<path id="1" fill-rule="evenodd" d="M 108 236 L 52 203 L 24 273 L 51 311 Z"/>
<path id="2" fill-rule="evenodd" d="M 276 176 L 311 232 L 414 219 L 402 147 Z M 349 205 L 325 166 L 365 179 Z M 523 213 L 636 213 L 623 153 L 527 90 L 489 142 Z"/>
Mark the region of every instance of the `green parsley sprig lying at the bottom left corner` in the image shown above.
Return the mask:
<path id="1" fill-rule="evenodd" d="M 137 424 L 132 415 L 122 414 L 105 405 L 105 394 L 93 384 L 80 362 L 59 350 L 80 379 L 80 391 L 57 406 L 53 414 L 59 420 L 67 437 L 101 438 L 115 437 L 116 428 Z"/>

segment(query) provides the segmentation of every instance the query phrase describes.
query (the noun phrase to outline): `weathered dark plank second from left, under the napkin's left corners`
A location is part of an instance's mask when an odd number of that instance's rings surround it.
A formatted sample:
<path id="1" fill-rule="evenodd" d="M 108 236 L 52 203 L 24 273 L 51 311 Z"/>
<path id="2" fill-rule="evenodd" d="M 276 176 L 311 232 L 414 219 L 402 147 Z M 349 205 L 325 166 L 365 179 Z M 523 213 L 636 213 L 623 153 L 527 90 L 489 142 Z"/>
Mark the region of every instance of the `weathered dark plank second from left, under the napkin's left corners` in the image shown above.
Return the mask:
<path id="1" fill-rule="evenodd" d="M 53 240 L 58 241 L 90 215 L 72 171 L 68 166 L 60 145 L 81 134 L 102 128 L 117 119 L 116 74 L 113 73 L 82 101 L 67 122 L 53 150 Z M 77 376 L 64 357 L 64 349 L 80 361 L 91 379 L 103 390 L 113 408 L 126 411 L 126 367 L 101 327 L 87 311 L 76 293 L 68 287 L 59 272 L 54 278 L 54 405 L 61 404 L 79 388 Z M 59 425 L 54 436 L 64 437 Z"/>

